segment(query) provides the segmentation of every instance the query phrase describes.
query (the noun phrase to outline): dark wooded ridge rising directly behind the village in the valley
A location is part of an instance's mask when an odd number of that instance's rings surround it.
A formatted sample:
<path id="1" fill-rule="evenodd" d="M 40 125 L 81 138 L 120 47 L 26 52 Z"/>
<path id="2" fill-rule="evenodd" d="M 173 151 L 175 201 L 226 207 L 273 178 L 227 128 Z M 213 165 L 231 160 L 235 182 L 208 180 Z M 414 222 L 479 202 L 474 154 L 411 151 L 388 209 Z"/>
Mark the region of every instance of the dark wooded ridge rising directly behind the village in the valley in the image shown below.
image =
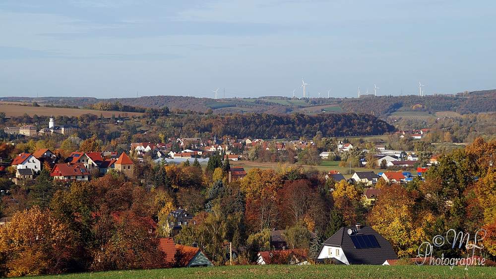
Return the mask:
<path id="1" fill-rule="evenodd" d="M 238 138 L 292 138 L 313 137 L 317 131 L 324 137 L 380 135 L 394 131 L 394 127 L 371 114 L 321 113 L 306 115 L 273 115 L 245 113 L 210 115 L 208 117 L 177 117 L 172 126 L 182 128 L 185 134 L 214 132 Z"/>

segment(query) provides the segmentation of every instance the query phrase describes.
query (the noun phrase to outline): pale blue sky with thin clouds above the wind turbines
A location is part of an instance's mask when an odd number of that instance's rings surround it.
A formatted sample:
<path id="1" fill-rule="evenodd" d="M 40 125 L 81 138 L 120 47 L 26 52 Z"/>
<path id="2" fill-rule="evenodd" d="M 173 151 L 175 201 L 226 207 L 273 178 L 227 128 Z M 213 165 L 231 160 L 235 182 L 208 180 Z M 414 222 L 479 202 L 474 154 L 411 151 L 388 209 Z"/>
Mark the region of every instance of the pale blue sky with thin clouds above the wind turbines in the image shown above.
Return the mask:
<path id="1" fill-rule="evenodd" d="M 495 89 L 495 16 L 491 0 L 1 0 L 0 97 Z"/>

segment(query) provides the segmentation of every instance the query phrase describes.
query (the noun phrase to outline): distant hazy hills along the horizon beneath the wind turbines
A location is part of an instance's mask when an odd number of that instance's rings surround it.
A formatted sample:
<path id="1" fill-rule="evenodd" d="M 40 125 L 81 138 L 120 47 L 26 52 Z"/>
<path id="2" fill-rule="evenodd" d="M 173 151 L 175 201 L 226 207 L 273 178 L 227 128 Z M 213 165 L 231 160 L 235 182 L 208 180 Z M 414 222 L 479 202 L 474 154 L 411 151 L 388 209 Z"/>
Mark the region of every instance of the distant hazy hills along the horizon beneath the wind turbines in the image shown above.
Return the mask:
<path id="1" fill-rule="evenodd" d="M 270 114 L 291 114 L 302 108 L 324 105 L 339 105 L 343 112 L 371 113 L 385 117 L 401 107 L 415 106 L 429 112 L 453 111 L 460 114 L 496 112 L 496 90 L 463 92 L 453 95 L 428 96 L 367 96 L 362 98 L 320 98 L 291 100 L 287 97 L 268 96 L 257 99 L 210 99 L 184 96 L 144 96 L 139 98 L 97 99 L 87 97 L 2 97 L 0 101 L 55 104 L 86 107 L 98 102 L 119 102 L 127 106 L 142 108 L 168 107 L 177 110 L 216 113 L 265 112 Z M 309 110 L 307 110 L 309 111 Z M 316 112 L 306 112 L 314 114 Z"/>

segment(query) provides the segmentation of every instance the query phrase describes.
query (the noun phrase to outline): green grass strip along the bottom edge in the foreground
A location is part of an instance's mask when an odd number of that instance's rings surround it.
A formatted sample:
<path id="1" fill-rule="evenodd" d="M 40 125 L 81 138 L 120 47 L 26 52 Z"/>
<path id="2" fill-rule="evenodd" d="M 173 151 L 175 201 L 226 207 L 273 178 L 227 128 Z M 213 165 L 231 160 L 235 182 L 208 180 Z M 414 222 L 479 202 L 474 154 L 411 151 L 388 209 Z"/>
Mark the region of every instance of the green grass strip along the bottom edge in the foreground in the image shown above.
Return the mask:
<path id="1" fill-rule="evenodd" d="M 346 265 L 309 265 L 309 266 L 231 266 L 212 268 L 155 269 L 134 271 L 110 271 L 57 276 L 39 276 L 36 279 L 279 279 L 279 278 L 332 278 L 332 279 L 491 279 L 496 278 L 496 268 L 446 266 L 346 266 Z"/>

